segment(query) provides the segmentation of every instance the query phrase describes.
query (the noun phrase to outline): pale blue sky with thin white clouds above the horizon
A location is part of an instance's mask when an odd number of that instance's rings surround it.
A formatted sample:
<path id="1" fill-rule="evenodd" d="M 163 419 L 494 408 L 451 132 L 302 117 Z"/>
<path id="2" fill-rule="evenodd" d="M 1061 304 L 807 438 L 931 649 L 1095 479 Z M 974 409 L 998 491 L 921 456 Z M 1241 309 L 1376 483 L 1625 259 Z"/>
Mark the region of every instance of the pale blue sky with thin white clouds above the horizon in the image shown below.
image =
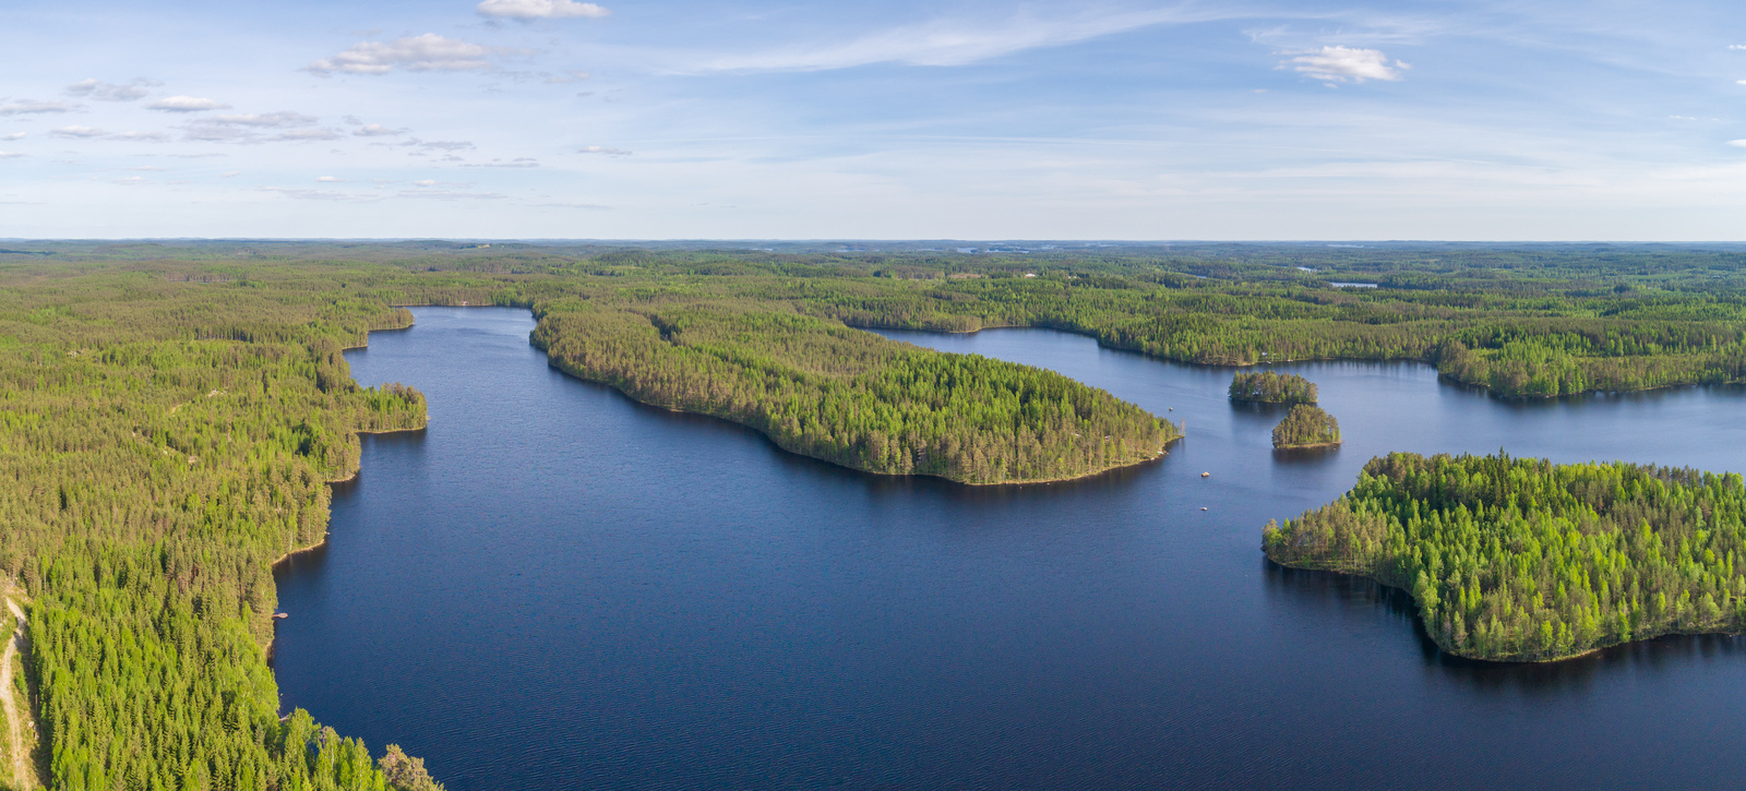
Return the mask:
<path id="1" fill-rule="evenodd" d="M 0 237 L 1746 239 L 1739 2 L 45 2 Z"/>

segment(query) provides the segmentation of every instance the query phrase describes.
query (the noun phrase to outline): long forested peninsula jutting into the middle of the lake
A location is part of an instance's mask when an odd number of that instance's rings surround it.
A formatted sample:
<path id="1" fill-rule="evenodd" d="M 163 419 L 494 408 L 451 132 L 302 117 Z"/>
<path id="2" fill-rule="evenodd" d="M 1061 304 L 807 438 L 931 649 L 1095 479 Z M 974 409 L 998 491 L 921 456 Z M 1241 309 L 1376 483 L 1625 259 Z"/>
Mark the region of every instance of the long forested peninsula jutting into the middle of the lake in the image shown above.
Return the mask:
<path id="1" fill-rule="evenodd" d="M 843 466 L 973 484 L 1145 461 L 1173 424 L 1060 374 L 746 306 L 548 313 L 552 363 L 646 403 L 753 426 Z"/>

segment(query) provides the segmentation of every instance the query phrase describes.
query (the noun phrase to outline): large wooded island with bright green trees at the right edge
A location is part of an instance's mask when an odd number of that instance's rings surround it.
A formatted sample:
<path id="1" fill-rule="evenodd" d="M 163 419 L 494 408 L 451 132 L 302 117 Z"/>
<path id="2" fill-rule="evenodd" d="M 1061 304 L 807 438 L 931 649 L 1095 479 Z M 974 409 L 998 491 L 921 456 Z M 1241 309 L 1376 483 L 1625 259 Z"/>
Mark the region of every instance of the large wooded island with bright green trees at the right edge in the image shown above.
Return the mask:
<path id="1" fill-rule="evenodd" d="M 1406 588 L 1444 651 L 1547 662 L 1746 625 L 1741 475 L 1390 454 L 1261 538 L 1282 566 Z"/>

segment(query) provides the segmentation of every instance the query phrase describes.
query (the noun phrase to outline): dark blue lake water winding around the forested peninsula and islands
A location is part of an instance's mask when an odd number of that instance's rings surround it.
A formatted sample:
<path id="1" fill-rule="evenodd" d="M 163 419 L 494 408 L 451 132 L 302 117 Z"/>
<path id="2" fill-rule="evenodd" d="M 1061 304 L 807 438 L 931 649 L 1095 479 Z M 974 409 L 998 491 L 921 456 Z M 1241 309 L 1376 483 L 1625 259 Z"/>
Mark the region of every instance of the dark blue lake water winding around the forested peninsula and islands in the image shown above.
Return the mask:
<path id="1" fill-rule="evenodd" d="M 281 567 L 276 669 L 286 707 L 452 791 L 1741 784 L 1746 641 L 1470 664 L 1400 594 L 1257 550 L 1393 449 L 1746 470 L 1739 389 L 1523 405 L 1292 365 L 1346 445 L 1276 454 L 1229 370 L 894 332 L 1187 423 L 1147 466 L 962 487 L 564 377 L 526 311 L 414 313 L 347 356 L 421 388 L 430 430 L 365 438 L 328 547 Z"/>

